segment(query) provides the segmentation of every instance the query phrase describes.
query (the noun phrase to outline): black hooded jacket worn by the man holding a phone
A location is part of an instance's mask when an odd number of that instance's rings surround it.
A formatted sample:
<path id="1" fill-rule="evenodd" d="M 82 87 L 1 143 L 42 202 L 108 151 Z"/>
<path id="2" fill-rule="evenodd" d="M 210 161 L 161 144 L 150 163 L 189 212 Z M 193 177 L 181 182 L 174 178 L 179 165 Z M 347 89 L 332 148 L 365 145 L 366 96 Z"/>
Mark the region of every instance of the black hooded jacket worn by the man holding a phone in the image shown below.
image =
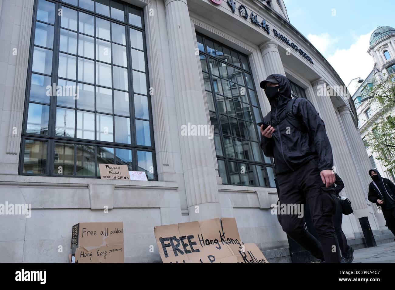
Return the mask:
<path id="1" fill-rule="evenodd" d="M 263 122 L 276 124 L 286 114 L 286 105 L 291 97 L 290 81 L 283 75 L 273 74 L 278 80 L 278 98 L 270 101 L 271 114 L 263 118 Z M 286 173 L 296 170 L 311 159 L 315 159 L 320 171 L 333 169 L 331 144 L 325 132 L 325 124 L 314 106 L 304 98 L 298 98 L 292 107 L 292 112 L 303 123 L 306 130 L 296 129 L 285 118 L 275 125 L 272 138 L 261 136 L 261 148 L 268 157 L 275 158 L 275 172 Z M 269 120 L 269 115 L 270 119 Z M 288 134 L 287 134 L 288 133 Z"/>

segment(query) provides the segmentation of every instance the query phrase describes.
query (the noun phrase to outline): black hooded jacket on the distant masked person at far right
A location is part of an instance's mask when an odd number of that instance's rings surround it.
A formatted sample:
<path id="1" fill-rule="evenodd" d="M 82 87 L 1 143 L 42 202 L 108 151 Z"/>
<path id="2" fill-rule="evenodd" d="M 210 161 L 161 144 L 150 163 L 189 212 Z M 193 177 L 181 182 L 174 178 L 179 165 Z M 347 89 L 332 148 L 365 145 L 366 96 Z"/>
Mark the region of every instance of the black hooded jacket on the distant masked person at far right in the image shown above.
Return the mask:
<path id="1" fill-rule="evenodd" d="M 369 170 L 369 176 L 372 171 L 377 173 L 378 180 L 374 181 L 374 183 L 376 183 L 378 189 L 374 186 L 373 181 L 369 183 L 368 199 L 378 206 L 381 206 L 382 209 L 389 210 L 390 208 L 395 208 L 395 185 L 391 180 L 381 177 L 376 169 Z M 378 204 L 378 199 L 383 200 L 384 204 Z"/>

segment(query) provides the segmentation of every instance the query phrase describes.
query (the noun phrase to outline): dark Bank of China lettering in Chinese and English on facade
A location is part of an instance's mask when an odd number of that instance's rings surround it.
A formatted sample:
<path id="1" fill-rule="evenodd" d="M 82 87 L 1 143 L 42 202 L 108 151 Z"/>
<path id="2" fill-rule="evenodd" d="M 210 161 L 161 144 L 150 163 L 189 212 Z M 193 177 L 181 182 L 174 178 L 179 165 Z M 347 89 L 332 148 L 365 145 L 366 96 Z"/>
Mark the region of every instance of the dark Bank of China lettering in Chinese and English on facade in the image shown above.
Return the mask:
<path id="1" fill-rule="evenodd" d="M 209 0 L 210 2 L 220 5 L 222 3 L 222 0 Z M 236 10 L 239 11 L 240 16 L 243 19 L 250 19 L 250 21 L 255 24 L 258 27 L 261 27 L 267 34 L 270 34 L 270 27 L 269 24 L 266 23 L 265 19 L 262 21 L 258 20 L 258 15 L 255 14 L 254 12 L 251 12 L 250 15 L 248 15 L 248 10 L 244 5 L 239 4 L 238 8 L 236 9 L 237 3 L 234 0 L 227 0 L 226 2 L 228 6 L 230 7 L 231 11 L 233 13 L 236 12 Z M 305 52 L 303 49 L 299 48 L 295 43 L 292 42 L 287 36 L 284 36 L 281 34 L 281 32 L 277 31 L 275 28 L 273 28 L 273 34 L 274 37 L 278 38 L 280 41 L 284 42 L 286 45 L 288 45 L 290 48 L 292 48 L 295 52 L 298 52 L 300 56 L 305 58 L 310 64 L 314 64 L 312 58 Z M 288 51 L 289 49 L 287 49 Z"/>

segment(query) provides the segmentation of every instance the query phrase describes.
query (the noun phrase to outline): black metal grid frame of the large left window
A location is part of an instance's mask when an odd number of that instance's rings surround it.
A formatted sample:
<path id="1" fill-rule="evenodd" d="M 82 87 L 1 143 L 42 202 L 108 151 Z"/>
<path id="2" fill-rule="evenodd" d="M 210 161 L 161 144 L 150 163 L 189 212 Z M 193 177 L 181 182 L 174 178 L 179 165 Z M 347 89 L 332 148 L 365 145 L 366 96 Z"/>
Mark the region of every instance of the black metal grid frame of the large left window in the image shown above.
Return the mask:
<path id="1" fill-rule="evenodd" d="M 64 1 L 64 0 L 46 0 L 47 2 L 51 2 L 55 4 L 55 22 L 54 22 L 54 37 L 53 37 L 53 55 L 52 55 L 52 69 L 51 69 L 51 75 L 48 74 L 44 74 L 44 73 L 36 73 L 32 71 L 32 64 L 33 64 L 33 52 L 34 52 L 34 47 L 40 47 L 39 45 L 35 45 L 34 44 L 34 39 L 35 39 L 35 30 L 36 30 L 36 22 L 40 22 L 40 23 L 46 23 L 40 20 L 37 20 L 37 11 L 38 11 L 38 2 L 39 0 L 34 0 L 34 7 L 32 9 L 32 29 L 31 29 L 31 36 L 30 36 L 30 41 L 29 41 L 29 62 L 28 62 L 28 69 L 27 69 L 27 77 L 26 77 L 26 90 L 25 90 L 25 103 L 24 103 L 24 111 L 23 111 L 23 128 L 22 128 L 22 136 L 21 136 L 21 144 L 20 144 L 20 156 L 19 156 L 19 170 L 18 170 L 18 174 L 19 175 L 27 175 L 27 176 L 55 176 L 55 177 L 67 177 L 67 178 L 100 178 L 100 176 L 98 176 L 97 173 L 97 152 L 98 152 L 98 147 L 109 147 L 109 148 L 119 148 L 119 149 L 127 149 L 127 150 L 132 150 L 132 170 L 135 171 L 139 171 L 139 167 L 138 167 L 138 159 L 137 159 L 137 151 L 146 151 L 146 152 L 151 152 L 152 154 L 152 166 L 153 166 L 153 176 L 154 178 L 150 178 L 149 176 L 147 176 L 148 180 L 152 180 L 152 181 L 157 181 L 158 180 L 158 174 L 157 174 L 157 166 L 156 166 L 156 154 L 155 154 L 155 143 L 154 143 L 154 130 L 153 130 L 153 118 L 152 118 L 152 104 L 151 104 L 151 92 L 150 92 L 150 84 L 149 84 L 149 70 L 148 70 L 148 57 L 147 57 L 147 36 L 146 36 L 146 31 L 145 31 L 145 19 L 144 19 L 144 11 L 143 8 L 141 7 L 137 7 L 134 6 L 130 3 L 126 3 L 120 0 L 111 0 L 109 1 L 109 11 L 111 13 L 111 2 L 117 2 L 118 4 L 122 4 L 123 5 L 123 9 L 124 9 L 124 21 L 119 21 L 116 18 L 111 18 L 110 16 L 105 16 L 102 15 L 100 13 L 96 13 L 94 11 L 90 11 L 87 10 L 85 8 L 79 7 L 79 6 L 75 6 L 73 4 L 69 4 L 68 2 Z M 77 1 L 77 4 L 78 1 Z M 109 21 L 111 23 L 116 23 L 119 25 L 122 25 L 125 27 L 125 47 L 126 47 L 126 69 L 128 69 L 128 90 L 125 89 L 118 89 L 118 88 L 114 88 L 114 78 L 112 76 L 112 87 L 107 87 L 107 86 L 103 86 L 101 84 L 97 84 L 97 80 L 96 80 L 96 74 L 94 75 L 94 83 L 89 83 L 86 81 L 80 81 L 78 80 L 77 77 L 77 73 L 78 73 L 78 62 L 76 60 L 76 79 L 72 80 L 72 79 L 67 79 L 65 77 L 59 77 L 58 76 L 58 59 L 59 59 L 59 54 L 60 53 L 64 53 L 62 51 L 60 51 L 60 47 L 59 47 L 59 40 L 60 40 L 60 30 L 61 29 L 66 29 L 68 31 L 73 31 L 64 27 L 60 26 L 60 20 L 61 20 L 61 16 L 58 15 L 58 11 L 61 7 L 66 7 L 66 8 L 70 8 L 76 11 L 80 11 L 82 13 L 86 13 L 88 15 L 92 15 L 95 17 L 95 25 L 94 25 L 94 29 L 96 30 L 96 19 L 100 18 L 100 19 L 104 19 L 106 21 Z M 138 11 L 140 11 L 140 17 L 141 17 L 141 27 L 139 26 L 135 26 L 133 24 L 130 24 L 129 22 L 129 7 L 133 8 L 133 9 L 137 9 Z M 96 9 L 96 1 L 94 1 L 94 10 Z M 81 58 L 81 56 L 79 56 L 78 53 L 78 45 L 79 45 L 79 34 L 81 35 L 85 35 L 85 36 L 90 36 L 86 33 L 83 32 L 79 32 L 78 29 L 78 25 L 79 25 L 79 14 L 77 13 L 77 31 L 73 31 L 77 34 L 77 50 L 76 50 L 76 54 L 72 54 L 70 52 L 67 52 L 67 54 L 71 55 L 71 56 L 76 56 L 77 58 Z M 111 14 L 110 14 L 111 15 Z M 110 24 L 112 27 L 112 24 Z M 135 93 L 134 89 L 133 89 L 133 71 L 139 71 L 137 69 L 133 69 L 132 68 L 132 52 L 131 49 L 135 49 L 138 51 L 142 51 L 141 49 L 135 48 L 131 46 L 131 41 L 130 41 L 130 28 L 134 29 L 134 30 L 138 30 L 140 32 L 142 32 L 142 37 L 143 37 L 143 52 L 144 52 L 144 58 L 145 58 L 145 71 L 140 71 L 142 73 L 145 73 L 145 78 L 146 78 L 146 84 L 147 84 L 147 94 L 141 94 L 141 93 Z M 112 31 L 110 30 L 110 35 L 112 35 Z M 94 36 L 90 36 L 90 37 L 94 37 L 95 39 L 95 43 L 96 43 L 96 39 L 101 40 L 102 38 L 97 37 L 96 36 L 96 32 L 94 34 Z M 112 60 L 112 49 L 113 43 L 117 43 L 114 42 L 112 37 L 111 40 L 106 40 L 103 39 L 105 41 L 108 41 L 110 43 L 110 47 L 111 47 L 111 60 Z M 48 49 L 47 47 L 42 47 L 45 49 Z M 94 50 L 95 50 L 95 55 L 96 55 L 96 45 L 94 45 Z M 87 58 L 85 56 L 82 56 L 82 58 L 84 59 L 88 59 L 90 60 L 90 58 Z M 103 64 L 107 64 L 105 62 L 102 62 L 100 60 L 97 60 L 96 57 L 93 59 L 94 60 L 94 69 L 96 71 L 96 62 L 100 62 Z M 123 67 L 121 65 L 117 65 L 114 64 L 112 61 L 109 65 L 112 66 L 117 66 L 117 67 Z M 112 71 L 112 70 L 111 70 Z M 51 77 L 51 86 L 52 84 L 56 83 L 56 85 L 58 85 L 58 79 L 64 79 L 64 80 L 71 80 L 73 82 L 75 82 L 75 84 L 89 84 L 94 86 L 95 88 L 95 92 L 96 92 L 96 88 L 97 87 L 101 87 L 101 88 L 109 88 L 111 90 L 120 90 L 123 92 L 128 92 L 129 95 L 129 116 L 121 116 L 121 115 L 117 115 L 115 114 L 115 109 L 114 109 L 114 96 L 113 96 L 113 113 L 111 114 L 107 114 L 108 116 L 113 116 L 113 142 L 111 141 L 101 141 L 101 140 L 96 140 L 96 124 L 97 124 L 97 119 L 96 119 L 96 115 L 98 114 L 103 114 L 103 112 L 100 112 L 96 109 L 96 98 L 95 98 L 95 108 L 93 110 L 93 113 L 95 114 L 95 118 L 94 118 L 94 134 L 95 134 L 95 140 L 90 140 L 90 139 L 83 139 L 83 138 L 77 138 L 77 137 L 65 137 L 65 136 L 56 136 L 56 132 L 55 132 L 55 121 L 56 121 L 56 108 L 57 107 L 64 107 L 62 105 L 57 105 L 56 103 L 56 95 L 55 96 L 50 96 L 49 97 L 49 104 L 45 104 L 45 105 L 49 105 L 50 107 L 50 111 L 49 111 L 49 120 L 48 120 L 48 135 L 43 135 L 43 134 L 34 134 L 34 133 L 26 133 L 26 126 L 27 126 L 27 119 L 28 119 L 28 106 L 29 103 L 39 103 L 36 101 L 30 101 L 29 97 L 30 97 L 30 87 L 31 87 L 31 77 L 32 77 L 32 73 L 34 74 L 38 74 L 38 75 L 44 75 L 44 76 L 49 76 Z M 147 121 L 147 119 L 141 119 L 141 118 L 136 118 L 135 117 L 135 106 L 134 106 L 134 95 L 143 95 L 147 97 L 147 101 L 148 101 L 148 113 L 149 113 L 149 128 L 150 128 L 150 146 L 144 146 L 144 145 L 137 145 L 136 142 L 136 130 L 135 130 L 135 122 L 136 120 L 144 120 Z M 39 103 L 40 104 L 40 103 Z M 44 103 L 41 103 L 44 105 Z M 77 111 L 88 111 L 88 112 L 92 112 L 92 110 L 86 110 L 86 109 L 81 109 L 81 108 L 77 108 L 77 103 L 75 103 L 75 107 L 71 108 L 71 107 L 64 107 L 67 109 L 72 109 L 75 110 L 75 125 L 74 125 L 74 131 L 75 131 L 75 136 L 76 136 L 76 131 L 77 131 Z M 116 116 L 121 116 L 121 117 L 125 117 L 125 118 L 129 118 L 129 122 L 130 122 L 130 144 L 127 143 L 119 143 L 119 142 L 115 142 L 115 117 Z M 41 140 L 41 141 L 47 141 L 47 162 L 46 162 L 46 174 L 31 174 L 31 173 L 24 173 L 23 172 L 23 164 L 24 164 L 24 144 L 25 144 L 25 140 Z M 53 166 L 54 166 L 54 157 L 55 157 L 55 143 L 56 142 L 61 142 L 61 143 L 73 143 L 75 144 L 75 148 L 74 148 L 74 174 L 73 175 L 66 175 L 66 174 L 54 174 L 53 173 Z M 94 146 L 95 148 L 95 175 L 94 176 L 81 176 L 81 175 L 76 175 L 76 161 L 77 161 L 77 144 L 83 144 L 83 145 L 87 145 L 87 146 Z M 114 157 L 115 156 L 115 152 L 114 152 Z"/>

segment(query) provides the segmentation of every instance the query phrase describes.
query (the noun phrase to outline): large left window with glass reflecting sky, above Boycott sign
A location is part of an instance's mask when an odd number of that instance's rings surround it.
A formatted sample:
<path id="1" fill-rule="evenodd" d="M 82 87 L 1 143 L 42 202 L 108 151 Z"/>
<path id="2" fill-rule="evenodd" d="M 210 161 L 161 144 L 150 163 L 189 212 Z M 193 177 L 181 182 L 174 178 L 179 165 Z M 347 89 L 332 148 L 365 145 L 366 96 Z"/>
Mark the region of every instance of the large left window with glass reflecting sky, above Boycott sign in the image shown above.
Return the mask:
<path id="1" fill-rule="evenodd" d="M 118 0 L 36 0 L 20 174 L 156 179 L 143 11 Z"/>

